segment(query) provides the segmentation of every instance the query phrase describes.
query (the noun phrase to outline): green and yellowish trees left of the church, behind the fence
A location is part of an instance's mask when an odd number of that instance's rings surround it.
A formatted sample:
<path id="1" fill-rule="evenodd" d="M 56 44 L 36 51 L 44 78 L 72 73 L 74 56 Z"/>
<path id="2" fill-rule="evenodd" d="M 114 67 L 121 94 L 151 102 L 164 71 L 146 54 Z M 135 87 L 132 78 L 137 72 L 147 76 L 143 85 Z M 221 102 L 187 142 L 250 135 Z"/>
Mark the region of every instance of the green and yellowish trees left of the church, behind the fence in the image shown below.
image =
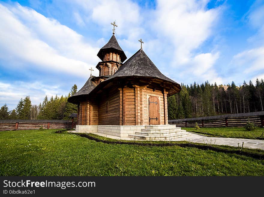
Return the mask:
<path id="1" fill-rule="evenodd" d="M 21 98 L 16 106 L 16 109 L 9 110 L 7 104 L 0 109 L 0 119 L 70 119 L 71 113 L 77 113 L 77 105 L 67 102 L 67 99 L 75 94 L 77 85 L 74 84 L 67 96 L 58 97 L 56 95 L 48 99 L 46 96 L 39 105 L 32 105 L 30 97 Z"/>

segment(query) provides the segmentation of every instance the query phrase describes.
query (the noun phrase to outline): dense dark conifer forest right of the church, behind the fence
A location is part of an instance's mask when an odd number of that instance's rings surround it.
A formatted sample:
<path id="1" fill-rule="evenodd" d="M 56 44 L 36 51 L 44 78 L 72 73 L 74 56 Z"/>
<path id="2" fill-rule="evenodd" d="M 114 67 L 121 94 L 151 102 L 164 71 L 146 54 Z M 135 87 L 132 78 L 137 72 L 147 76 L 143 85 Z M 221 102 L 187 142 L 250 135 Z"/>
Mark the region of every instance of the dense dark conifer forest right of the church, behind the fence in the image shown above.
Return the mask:
<path id="1" fill-rule="evenodd" d="M 236 86 L 210 84 L 184 85 L 179 94 L 168 97 L 169 119 L 264 111 L 264 81 Z"/>

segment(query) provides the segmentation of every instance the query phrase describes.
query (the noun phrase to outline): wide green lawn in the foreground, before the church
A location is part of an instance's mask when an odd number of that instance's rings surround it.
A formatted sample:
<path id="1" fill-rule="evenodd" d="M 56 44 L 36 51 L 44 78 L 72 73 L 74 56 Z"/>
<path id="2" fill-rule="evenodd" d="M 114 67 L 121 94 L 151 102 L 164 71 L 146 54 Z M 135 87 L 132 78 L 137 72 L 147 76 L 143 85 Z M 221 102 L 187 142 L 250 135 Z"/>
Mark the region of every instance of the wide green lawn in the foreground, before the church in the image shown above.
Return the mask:
<path id="1" fill-rule="evenodd" d="M 264 160 L 238 154 L 179 146 L 105 144 L 55 131 L 1 131 L 0 175 L 264 175 Z"/>

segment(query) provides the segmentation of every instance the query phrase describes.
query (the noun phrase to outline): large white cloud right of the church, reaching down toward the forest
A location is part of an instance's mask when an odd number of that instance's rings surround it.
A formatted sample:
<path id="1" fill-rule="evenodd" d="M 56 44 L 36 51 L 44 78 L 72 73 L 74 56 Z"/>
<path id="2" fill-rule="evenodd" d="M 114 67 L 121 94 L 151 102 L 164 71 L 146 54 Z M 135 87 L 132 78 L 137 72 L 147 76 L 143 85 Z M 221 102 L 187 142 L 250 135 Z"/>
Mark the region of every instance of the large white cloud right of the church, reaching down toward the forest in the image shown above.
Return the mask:
<path id="1" fill-rule="evenodd" d="M 204 1 L 158 1 L 154 24 L 161 43 L 161 55 L 170 58 L 169 70 L 178 70 L 172 78 L 184 83 L 212 80 L 221 82 L 214 64 L 219 52 L 195 52 L 211 35 L 220 16 L 220 7 L 207 8 Z M 156 50 L 153 48 L 153 50 Z M 170 74 L 172 75 L 172 74 Z"/>

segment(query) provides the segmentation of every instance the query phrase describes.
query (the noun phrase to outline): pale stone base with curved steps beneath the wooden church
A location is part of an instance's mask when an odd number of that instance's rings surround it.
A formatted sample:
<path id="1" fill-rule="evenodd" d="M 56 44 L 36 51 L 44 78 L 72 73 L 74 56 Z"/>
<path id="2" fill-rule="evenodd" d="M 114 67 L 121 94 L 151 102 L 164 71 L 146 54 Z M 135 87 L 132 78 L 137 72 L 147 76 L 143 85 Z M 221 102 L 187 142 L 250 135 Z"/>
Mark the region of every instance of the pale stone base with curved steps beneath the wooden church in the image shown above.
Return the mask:
<path id="1" fill-rule="evenodd" d="M 120 139 L 141 139 L 141 140 L 172 140 L 175 138 L 189 136 L 190 133 L 182 130 L 176 125 L 76 125 L 73 133 L 103 133 L 110 136 L 117 136 Z"/>

